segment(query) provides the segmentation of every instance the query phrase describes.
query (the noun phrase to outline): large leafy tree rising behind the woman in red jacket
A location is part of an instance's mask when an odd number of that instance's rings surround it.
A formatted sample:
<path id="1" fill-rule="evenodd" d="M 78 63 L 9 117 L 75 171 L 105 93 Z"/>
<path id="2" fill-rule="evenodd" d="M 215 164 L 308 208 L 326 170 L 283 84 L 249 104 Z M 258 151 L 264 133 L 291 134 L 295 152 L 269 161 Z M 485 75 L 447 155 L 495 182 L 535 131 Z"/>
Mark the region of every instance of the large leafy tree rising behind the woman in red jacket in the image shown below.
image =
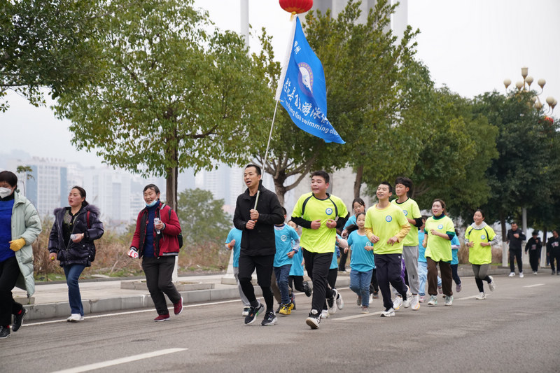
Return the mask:
<path id="1" fill-rule="evenodd" d="M 192 3 L 106 3 L 96 31 L 98 72 L 56 105 L 71 120 L 78 149 L 95 149 L 136 174 L 165 176 L 173 208 L 182 169 L 247 159 L 267 94 L 241 36 L 209 33 L 208 14 Z"/>

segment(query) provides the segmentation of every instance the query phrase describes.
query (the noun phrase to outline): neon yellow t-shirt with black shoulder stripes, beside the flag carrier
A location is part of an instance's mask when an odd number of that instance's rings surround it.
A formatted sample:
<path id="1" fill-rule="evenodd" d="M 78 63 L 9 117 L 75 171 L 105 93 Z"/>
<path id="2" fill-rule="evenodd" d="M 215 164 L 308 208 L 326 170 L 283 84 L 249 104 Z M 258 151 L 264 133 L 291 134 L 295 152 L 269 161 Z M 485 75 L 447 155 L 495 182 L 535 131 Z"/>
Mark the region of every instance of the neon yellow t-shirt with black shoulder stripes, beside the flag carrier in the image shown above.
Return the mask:
<path id="1" fill-rule="evenodd" d="M 306 202 L 307 201 L 307 202 Z M 303 207 L 305 204 L 305 208 Z M 321 220 L 318 230 L 302 228 L 300 246 L 311 253 L 332 253 L 337 242 L 336 228 L 328 228 L 328 219 L 337 220 L 348 215 L 346 205 L 342 199 L 334 195 L 327 195 L 326 199 L 317 199 L 312 192 L 306 193 L 297 200 L 293 208 L 292 217 L 305 220 Z"/>

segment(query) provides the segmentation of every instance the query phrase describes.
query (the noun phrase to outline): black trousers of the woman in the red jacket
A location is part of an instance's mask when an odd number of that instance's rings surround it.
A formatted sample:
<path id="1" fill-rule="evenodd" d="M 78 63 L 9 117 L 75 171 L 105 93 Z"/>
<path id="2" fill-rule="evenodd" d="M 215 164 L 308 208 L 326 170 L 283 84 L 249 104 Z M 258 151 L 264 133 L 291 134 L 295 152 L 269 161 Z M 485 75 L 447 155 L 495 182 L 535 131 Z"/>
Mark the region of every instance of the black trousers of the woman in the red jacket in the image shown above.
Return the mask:
<path id="1" fill-rule="evenodd" d="M 144 257 L 142 259 L 142 269 L 146 274 L 146 285 L 158 315 L 169 314 L 164 294 L 173 303 L 181 301 L 181 294 L 179 294 L 172 281 L 174 267 L 175 255 L 160 258 Z"/>

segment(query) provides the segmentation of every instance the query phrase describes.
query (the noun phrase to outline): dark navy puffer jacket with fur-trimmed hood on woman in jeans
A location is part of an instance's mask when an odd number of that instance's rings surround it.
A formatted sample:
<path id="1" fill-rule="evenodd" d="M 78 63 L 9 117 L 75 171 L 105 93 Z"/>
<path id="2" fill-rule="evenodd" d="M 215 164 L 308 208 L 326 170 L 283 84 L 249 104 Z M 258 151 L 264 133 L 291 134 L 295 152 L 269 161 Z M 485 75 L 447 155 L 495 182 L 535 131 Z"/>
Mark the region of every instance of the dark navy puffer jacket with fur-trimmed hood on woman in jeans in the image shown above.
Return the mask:
<path id="1" fill-rule="evenodd" d="M 57 253 L 60 267 L 64 265 L 85 265 L 90 267 L 95 259 L 94 239 L 103 236 L 103 223 L 99 221 L 99 209 L 91 204 L 82 207 L 78 216 L 74 218 L 72 233 L 83 233 L 82 241 L 75 244 L 69 241 L 68 247 L 64 245 L 64 234 L 62 233 L 62 218 L 67 207 L 55 209 L 55 223 L 50 230 L 48 240 L 48 251 Z M 87 211 L 90 212 L 89 223 L 87 222 Z"/>

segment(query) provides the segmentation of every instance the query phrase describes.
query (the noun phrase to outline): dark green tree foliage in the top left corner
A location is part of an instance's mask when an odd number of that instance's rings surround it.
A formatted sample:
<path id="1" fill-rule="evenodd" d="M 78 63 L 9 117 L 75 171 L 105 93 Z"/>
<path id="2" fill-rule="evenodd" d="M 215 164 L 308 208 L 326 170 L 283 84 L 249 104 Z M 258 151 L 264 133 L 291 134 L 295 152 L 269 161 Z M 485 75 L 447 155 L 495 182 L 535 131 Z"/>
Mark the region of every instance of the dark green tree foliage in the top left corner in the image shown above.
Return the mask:
<path id="1" fill-rule="evenodd" d="M 97 1 L 13 0 L 0 3 L 0 111 L 13 90 L 35 106 L 41 87 L 53 97 L 87 81 L 95 50 L 88 43 L 97 22 Z"/>

